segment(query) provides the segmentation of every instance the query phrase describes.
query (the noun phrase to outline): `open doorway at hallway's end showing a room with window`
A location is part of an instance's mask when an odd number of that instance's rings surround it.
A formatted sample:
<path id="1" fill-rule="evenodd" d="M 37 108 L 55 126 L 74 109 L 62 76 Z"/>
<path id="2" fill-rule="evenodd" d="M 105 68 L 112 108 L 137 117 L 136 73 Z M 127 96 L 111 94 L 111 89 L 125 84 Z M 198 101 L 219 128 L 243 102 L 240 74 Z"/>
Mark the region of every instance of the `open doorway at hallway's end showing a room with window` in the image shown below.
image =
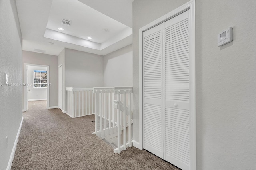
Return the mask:
<path id="1" fill-rule="evenodd" d="M 24 63 L 23 111 L 29 109 L 28 101 L 45 101 L 49 109 L 49 66 Z"/>

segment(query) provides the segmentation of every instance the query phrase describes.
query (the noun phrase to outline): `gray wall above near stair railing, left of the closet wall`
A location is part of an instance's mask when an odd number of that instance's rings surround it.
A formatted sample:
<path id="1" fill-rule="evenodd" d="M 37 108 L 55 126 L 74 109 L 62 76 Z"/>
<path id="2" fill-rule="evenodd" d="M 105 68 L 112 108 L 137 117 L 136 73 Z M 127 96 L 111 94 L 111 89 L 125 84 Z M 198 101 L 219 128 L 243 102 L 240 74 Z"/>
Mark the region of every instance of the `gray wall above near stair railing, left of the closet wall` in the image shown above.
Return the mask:
<path id="1" fill-rule="evenodd" d="M 104 87 L 132 86 L 132 45 L 104 56 Z"/>

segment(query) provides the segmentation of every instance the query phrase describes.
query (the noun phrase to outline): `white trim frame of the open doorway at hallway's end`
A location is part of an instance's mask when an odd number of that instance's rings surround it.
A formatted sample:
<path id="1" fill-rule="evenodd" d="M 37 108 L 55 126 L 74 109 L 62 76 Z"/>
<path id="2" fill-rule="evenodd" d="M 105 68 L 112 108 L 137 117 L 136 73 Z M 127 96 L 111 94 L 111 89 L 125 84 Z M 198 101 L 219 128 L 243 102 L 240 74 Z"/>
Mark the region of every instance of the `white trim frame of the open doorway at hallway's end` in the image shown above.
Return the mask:
<path id="1" fill-rule="evenodd" d="M 28 79 L 27 74 L 26 74 L 26 69 L 27 66 L 38 66 L 38 67 L 47 67 L 47 83 L 49 83 L 50 79 L 50 66 L 49 65 L 38 65 L 38 64 L 29 64 L 29 63 L 24 63 L 23 64 L 23 83 L 26 84 L 26 79 Z M 28 103 L 28 98 L 26 97 L 26 93 L 27 93 L 27 87 L 23 86 L 23 110 L 22 111 L 26 111 L 27 110 L 27 103 Z M 50 94 L 50 86 L 47 86 L 47 106 L 46 109 L 49 109 L 49 95 Z"/>

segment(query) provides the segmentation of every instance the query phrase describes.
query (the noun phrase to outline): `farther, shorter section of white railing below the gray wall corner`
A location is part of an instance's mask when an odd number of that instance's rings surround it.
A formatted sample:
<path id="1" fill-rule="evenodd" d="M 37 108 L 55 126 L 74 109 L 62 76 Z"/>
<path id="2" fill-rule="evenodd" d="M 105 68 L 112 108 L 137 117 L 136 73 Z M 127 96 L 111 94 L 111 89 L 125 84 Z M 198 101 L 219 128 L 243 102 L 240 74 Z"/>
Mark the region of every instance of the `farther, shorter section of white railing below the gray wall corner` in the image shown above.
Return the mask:
<path id="1" fill-rule="evenodd" d="M 94 114 L 93 87 L 66 87 L 67 111 L 72 118 Z"/>

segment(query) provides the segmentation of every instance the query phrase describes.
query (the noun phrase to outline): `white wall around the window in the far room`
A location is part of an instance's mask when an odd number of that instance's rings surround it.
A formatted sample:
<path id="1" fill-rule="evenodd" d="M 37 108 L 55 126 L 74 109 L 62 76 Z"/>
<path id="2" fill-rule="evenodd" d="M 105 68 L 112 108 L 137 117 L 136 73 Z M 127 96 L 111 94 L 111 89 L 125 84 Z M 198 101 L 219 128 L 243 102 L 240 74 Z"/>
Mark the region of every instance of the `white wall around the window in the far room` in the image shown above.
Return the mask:
<path id="1" fill-rule="evenodd" d="M 34 89 L 34 70 L 47 71 L 47 67 L 28 66 L 28 100 L 47 99 L 47 89 Z"/>

